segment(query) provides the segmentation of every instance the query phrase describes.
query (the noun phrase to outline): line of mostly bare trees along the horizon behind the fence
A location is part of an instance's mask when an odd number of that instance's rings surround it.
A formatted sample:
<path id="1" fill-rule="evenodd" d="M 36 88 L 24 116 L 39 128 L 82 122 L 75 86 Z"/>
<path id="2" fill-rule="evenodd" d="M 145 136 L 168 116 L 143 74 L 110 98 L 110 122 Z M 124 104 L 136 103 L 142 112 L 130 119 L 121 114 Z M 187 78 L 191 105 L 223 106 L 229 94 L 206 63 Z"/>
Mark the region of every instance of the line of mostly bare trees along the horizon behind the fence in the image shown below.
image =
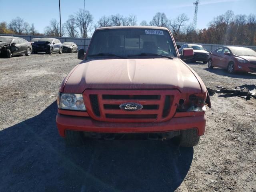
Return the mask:
<path id="1" fill-rule="evenodd" d="M 256 15 L 235 15 L 232 10 L 225 14 L 216 16 L 208 23 L 208 28 L 194 29 L 189 18 L 182 13 L 176 18 L 167 18 L 165 13 L 156 13 L 148 23 L 146 20 L 140 22 L 140 26 L 162 26 L 169 28 L 177 42 L 212 43 L 212 44 L 240 44 L 256 45 Z M 122 16 L 120 14 L 102 16 L 98 21 L 93 20 L 88 10 L 80 9 L 78 12 L 68 16 L 68 20 L 62 24 L 52 19 L 44 28 L 44 34 L 35 29 L 34 24 L 25 22 L 17 17 L 7 22 L 0 23 L 0 34 L 25 34 L 45 36 L 66 36 L 88 38 L 96 28 L 108 26 L 135 26 L 137 18 L 135 15 Z"/>

